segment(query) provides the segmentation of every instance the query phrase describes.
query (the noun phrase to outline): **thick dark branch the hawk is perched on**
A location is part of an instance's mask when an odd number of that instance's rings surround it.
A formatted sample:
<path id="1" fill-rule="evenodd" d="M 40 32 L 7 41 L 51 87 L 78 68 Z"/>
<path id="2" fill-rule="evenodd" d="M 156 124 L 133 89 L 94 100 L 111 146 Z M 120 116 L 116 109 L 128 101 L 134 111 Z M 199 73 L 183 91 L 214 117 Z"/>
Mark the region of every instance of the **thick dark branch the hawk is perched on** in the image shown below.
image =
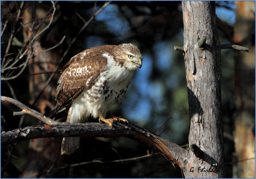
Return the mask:
<path id="1" fill-rule="evenodd" d="M 11 144 L 41 137 L 128 137 L 146 144 L 161 153 L 168 160 L 175 162 L 180 169 L 187 151 L 162 137 L 156 136 L 131 124 L 114 123 L 110 128 L 100 123 L 59 123 L 59 125 L 44 125 L 19 128 L 1 133 L 1 144 Z"/>

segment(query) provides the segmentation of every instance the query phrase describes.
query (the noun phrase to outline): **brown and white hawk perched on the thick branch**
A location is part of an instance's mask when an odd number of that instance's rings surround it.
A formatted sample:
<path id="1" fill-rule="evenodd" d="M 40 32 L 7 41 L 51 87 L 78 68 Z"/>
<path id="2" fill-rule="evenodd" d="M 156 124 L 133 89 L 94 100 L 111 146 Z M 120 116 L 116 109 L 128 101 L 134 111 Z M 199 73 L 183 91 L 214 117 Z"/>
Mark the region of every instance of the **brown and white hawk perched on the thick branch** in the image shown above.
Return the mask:
<path id="1" fill-rule="evenodd" d="M 92 47 L 72 57 L 58 80 L 57 104 L 52 114 L 67 109 L 69 123 L 84 123 L 92 116 L 111 126 L 113 119 L 106 119 L 106 114 L 124 97 L 142 59 L 138 47 L 131 43 Z M 64 137 L 61 155 L 70 155 L 79 143 L 79 137 Z"/>

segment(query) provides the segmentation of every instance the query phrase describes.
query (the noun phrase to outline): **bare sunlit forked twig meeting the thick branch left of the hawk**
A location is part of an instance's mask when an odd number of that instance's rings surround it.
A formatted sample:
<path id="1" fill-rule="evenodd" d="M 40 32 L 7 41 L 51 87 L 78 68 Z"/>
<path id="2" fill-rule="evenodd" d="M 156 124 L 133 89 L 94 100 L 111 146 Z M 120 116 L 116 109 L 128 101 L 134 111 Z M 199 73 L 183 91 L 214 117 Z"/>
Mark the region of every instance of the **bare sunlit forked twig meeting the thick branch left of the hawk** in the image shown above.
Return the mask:
<path id="1" fill-rule="evenodd" d="M 10 102 L 10 103 L 16 105 L 17 107 L 22 109 L 22 111 L 20 113 L 22 113 L 22 114 L 29 114 L 31 116 L 34 116 L 35 118 L 37 118 L 38 120 L 42 121 L 43 123 L 46 123 L 48 125 L 56 124 L 56 121 L 53 121 L 50 118 L 47 118 L 46 116 L 44 116 L 44 114 L 38 113 L 34 109 L 29 108 L 28 106 L 22 104 L 18 100 L 15 100 L 15 99 L 9 98 L 9 97 L 1 96 L 1 101 Z"/>

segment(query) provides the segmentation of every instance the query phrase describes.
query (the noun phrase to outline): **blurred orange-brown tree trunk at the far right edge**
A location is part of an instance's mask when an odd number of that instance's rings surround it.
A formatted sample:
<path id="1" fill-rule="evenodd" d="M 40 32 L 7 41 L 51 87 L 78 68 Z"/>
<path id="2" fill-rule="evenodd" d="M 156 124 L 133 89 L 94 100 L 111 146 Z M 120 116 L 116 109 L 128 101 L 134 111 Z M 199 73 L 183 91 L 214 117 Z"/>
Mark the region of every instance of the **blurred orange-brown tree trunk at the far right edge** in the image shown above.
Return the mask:
<path id="1" fill-rule="evenodd" d="M 235 52 L 236 114 L 233 177 L 255 177 L 255 2 L 236 2 L 234 43 L 249 47 L 250 52 Z M 235 162 L 236 162 L 235 160 Z"/>

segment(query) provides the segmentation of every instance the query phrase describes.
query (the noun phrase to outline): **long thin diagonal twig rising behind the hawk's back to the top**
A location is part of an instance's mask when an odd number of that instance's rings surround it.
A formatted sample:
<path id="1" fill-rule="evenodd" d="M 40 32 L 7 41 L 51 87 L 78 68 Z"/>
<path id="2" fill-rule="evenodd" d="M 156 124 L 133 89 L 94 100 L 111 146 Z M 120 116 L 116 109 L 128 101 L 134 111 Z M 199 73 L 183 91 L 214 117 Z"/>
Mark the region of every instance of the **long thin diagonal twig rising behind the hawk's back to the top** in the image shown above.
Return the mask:
<path id="1" fill-rule="evenodd" d="M 99 10 L 97 10 L 97 12 L 92 15 L 92 17 L 90 17 L 90 19 L 88 20 L 88 22 L 86 22 L 86 23 L 84 24 L 84 26 L 83 26 L 83 27 L 80 29 L 80 31 L 77 33 L 77 36 L 75 36 L 75 37 L 73 38 L 72 42 L 69 43 L 67 50 L 64 52 L 64 54 L 63 54 L 63 56 L 61 57 L 61 59 L 60 59 L 58 65 L 56 66 L 55 72 L 58 71 L 61 62 L 63 61 L 63 59 L 64 59 L 65 56 L 67 55 L 67 53 L 68 53 L 68 51 L 70 50 L 70 48 L 72 47 L 73 43 L 76 42 L 77 37 L 84 31 L 84 29 L 90 24 L 90 22 L 91 22 L 93 19 L 95 19 L 95 17 L 96 17 L 102 10 L 104 10 L 104 8 L 106 8 L 106 6 L 108 6 L 109 3 L 111 3 L 111 1 L 107 1 L 106 3 L 104 3 L 103 6 L 102 6 Z M 55 73 L 53 73 L 53 74 L 49 77 L 48 81 L 45 83 L 44 88 L 42 89 L 42 91 L 40 91 L 40 93 L 39 93 L 38 96 L 36 97 L 35 101 L 33 102 L 32 106 L 36 104 L 37 100 L 38 100 L 38 99 L 41 97 L 41 95 L 44 93 L 44 90 L 47 88 L 47 86 L 48 86 L 49 83 L 51 82 L 51 80 L 52 80 L 52 78 L 54 77 L 54 75 L 55 75 Z"/>

